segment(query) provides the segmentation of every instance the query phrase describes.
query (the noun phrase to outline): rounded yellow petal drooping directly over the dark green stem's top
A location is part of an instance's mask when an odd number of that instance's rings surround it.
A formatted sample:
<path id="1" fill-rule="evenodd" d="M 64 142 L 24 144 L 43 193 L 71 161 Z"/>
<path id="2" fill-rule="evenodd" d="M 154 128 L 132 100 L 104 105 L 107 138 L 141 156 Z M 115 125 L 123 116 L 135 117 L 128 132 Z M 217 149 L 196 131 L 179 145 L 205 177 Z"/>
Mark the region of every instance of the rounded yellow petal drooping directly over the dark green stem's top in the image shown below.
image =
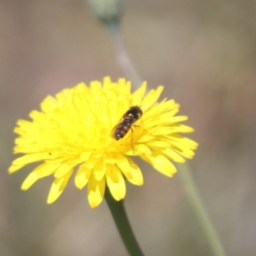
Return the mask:
<path id="1" fill-rule="evenodd" d="M 122 172 L 116 165 L 108 165 L 106 180 L 113 198 L 117 201 L 124 199 L 126 193 L 125 181 Z"/>

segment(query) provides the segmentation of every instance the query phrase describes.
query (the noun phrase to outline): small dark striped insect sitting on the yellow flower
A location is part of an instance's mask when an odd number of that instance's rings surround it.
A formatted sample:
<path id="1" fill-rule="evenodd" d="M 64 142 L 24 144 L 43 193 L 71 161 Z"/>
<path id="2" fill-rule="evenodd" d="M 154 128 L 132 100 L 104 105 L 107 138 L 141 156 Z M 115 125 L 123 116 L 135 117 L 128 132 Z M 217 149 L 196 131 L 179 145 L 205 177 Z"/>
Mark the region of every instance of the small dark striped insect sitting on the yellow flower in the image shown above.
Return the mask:
<path id="1" fill-rule="evenodd" d="M 112 137 L 115 140 L 120 140 L 132 129 L 132 125 L 141 118 L 143 112 L 140 107 L 132 106 L 129 110 L 123 115 L 120 122 L 114 127 L 112 132 Z"/>

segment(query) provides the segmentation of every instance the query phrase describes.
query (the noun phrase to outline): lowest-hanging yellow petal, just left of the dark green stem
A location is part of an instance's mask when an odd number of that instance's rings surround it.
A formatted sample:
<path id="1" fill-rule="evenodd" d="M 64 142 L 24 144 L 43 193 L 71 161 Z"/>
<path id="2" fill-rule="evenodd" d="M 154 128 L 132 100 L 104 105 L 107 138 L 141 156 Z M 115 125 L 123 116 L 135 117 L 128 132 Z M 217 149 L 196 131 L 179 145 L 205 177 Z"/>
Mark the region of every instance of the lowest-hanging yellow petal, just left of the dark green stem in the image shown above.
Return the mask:
<path id="1" fill-rule="evenodd" d="M 92 208 L 97 207 L 104 198 L 106 179 L 96 180 L 92 174 L 88 182 L 88 201 Z"/>

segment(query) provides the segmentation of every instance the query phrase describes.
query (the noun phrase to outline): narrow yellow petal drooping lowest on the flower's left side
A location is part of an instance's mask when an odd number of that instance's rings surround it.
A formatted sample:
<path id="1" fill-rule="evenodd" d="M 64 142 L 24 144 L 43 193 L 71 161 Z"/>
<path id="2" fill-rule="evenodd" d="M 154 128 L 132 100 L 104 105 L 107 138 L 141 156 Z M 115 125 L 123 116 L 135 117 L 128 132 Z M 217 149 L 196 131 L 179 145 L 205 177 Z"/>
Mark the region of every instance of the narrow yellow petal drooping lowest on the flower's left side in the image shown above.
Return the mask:
<path id="1" fill-rule="evenodd" d="M 47 204 L 52 204 L 61 195 L 63 190 L 66 188 L 71 175 L 72 171 L 67 173 L 64 177 L 60 179 L 56 178 L 54 180 L 47 198 Z"/>

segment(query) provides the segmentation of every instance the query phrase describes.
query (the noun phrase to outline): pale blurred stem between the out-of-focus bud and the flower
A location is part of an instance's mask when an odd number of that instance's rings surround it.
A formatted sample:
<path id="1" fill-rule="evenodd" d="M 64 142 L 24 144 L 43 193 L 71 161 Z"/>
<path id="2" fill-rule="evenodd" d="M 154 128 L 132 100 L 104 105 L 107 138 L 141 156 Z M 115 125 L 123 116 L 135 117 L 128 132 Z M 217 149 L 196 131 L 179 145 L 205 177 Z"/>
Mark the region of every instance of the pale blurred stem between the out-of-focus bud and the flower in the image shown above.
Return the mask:
<path id="1" fill-rule="evenodd" d="M 138 88 L 141 84 L 141 78 L 126 51 L 124 40 L 122 38 L 120 22 L 118 22 L 118 20 L 109 22 L 107 28 L 115 49 L 116 59 L 120 67 L 124 71 L 125 76 L 131 79 L 132 84 Z"/>

